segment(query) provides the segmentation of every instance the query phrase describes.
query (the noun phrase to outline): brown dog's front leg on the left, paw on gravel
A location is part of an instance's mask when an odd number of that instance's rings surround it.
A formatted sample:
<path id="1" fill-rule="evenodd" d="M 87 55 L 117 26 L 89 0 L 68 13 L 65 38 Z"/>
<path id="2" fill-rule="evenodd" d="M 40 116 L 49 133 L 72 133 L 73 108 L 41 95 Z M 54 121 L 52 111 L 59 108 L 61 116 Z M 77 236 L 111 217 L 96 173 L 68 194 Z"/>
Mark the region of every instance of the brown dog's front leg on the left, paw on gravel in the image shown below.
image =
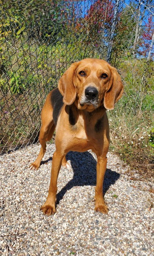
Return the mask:
<path id="1" fill-rule="evenodd" d="M 64 155 L 61 152 L 55 151 L 52 158 L 52 168 L 51 168 L 51 180 L 48 190 L 48 197 L 45 204 L 41 207 L 40 210 L 43 211 L 46 215 L 55 214 L 56 212 L 56 193 L 57 193 L 57 179 L 60 167 L 62 165 L 62 159 Z"/>

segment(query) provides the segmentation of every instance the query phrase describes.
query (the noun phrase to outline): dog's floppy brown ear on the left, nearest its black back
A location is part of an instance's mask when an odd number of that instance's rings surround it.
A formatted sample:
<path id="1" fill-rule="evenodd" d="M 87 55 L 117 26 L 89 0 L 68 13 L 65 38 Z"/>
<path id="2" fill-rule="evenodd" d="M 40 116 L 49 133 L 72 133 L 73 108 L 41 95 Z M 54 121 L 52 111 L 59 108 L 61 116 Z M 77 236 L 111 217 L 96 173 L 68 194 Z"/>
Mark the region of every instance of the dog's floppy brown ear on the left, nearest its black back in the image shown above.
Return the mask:
<path id="1" fill-rule="evenodd" d="M 76 99 L 76 86 L 74 85 L 74 73 L 77 68 L 77 62 L 73 63 L 69 69 L 62 75 L 58 83 L 58 89 L 63 96 L 63 102 L 71 105 Z"/>

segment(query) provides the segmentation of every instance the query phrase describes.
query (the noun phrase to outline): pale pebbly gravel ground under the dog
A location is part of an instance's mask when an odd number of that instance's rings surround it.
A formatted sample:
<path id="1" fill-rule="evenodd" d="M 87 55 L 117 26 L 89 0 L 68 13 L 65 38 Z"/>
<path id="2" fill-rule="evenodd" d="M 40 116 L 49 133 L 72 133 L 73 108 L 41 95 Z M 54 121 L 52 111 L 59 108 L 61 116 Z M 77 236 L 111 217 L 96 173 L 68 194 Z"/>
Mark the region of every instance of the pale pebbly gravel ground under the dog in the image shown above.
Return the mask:
<path id="1" fill-rule="evenodd" d="M 108 153 L 104 198 L 109 214 L 94 212 L 96 157 L 69 152 L 72 169 L 61 168 L 56 214 L 39 211 L 45 202 L 55 145 L 47 146 L 38 171 L 27 168 L 40 145 L 0 157 L 0 255 L 152 256 L 152 183 L 131 177 Z"/>

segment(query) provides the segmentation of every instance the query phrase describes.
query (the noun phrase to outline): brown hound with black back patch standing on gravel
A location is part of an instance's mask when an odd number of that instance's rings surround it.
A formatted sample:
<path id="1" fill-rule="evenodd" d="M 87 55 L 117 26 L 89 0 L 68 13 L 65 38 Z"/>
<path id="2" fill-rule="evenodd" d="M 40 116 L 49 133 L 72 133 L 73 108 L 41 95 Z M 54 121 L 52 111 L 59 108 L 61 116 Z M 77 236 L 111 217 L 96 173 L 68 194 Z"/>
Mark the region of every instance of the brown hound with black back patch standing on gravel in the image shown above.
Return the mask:
<path id="1" fill-rule="evenodd" d="M 117 69 L 105 60 L 83 59 L 73 63 L 59 80 L 58 88 L 47 96 L 41 112 L 42 126 L 39 140 L 40 153 L 30 169 L 37 170 L 56 128 L 51 181 L 48 197 L 41 207 L 44 214 L 56 212 L 57 179 L 61 165 L 69 167 L 65 155 L 69 151 L 84 152 L 91 149 L 97 156 L 95 210 L 107 213 L 103 200 L 103 179 L 109 149 L 109 123 L 106 109 L 123 93 L 123 84 Z"/>

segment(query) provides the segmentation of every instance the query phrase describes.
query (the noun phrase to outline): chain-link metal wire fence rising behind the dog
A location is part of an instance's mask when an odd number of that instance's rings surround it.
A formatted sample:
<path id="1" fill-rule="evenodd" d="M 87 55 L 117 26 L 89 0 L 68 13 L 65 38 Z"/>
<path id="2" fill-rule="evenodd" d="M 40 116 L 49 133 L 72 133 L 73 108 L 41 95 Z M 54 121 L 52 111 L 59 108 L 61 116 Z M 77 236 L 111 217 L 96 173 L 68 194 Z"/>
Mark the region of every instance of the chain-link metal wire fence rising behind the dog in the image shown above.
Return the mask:
<path id="1" fill-rule="evenodd" d="M 45 98 L 75 61 L 100 58 L 115 66 L 125 86 L 136 86 L 134 111 L 151 97 L 152 1 L 0 4 L 0 153 L 38 141 Z"/>

